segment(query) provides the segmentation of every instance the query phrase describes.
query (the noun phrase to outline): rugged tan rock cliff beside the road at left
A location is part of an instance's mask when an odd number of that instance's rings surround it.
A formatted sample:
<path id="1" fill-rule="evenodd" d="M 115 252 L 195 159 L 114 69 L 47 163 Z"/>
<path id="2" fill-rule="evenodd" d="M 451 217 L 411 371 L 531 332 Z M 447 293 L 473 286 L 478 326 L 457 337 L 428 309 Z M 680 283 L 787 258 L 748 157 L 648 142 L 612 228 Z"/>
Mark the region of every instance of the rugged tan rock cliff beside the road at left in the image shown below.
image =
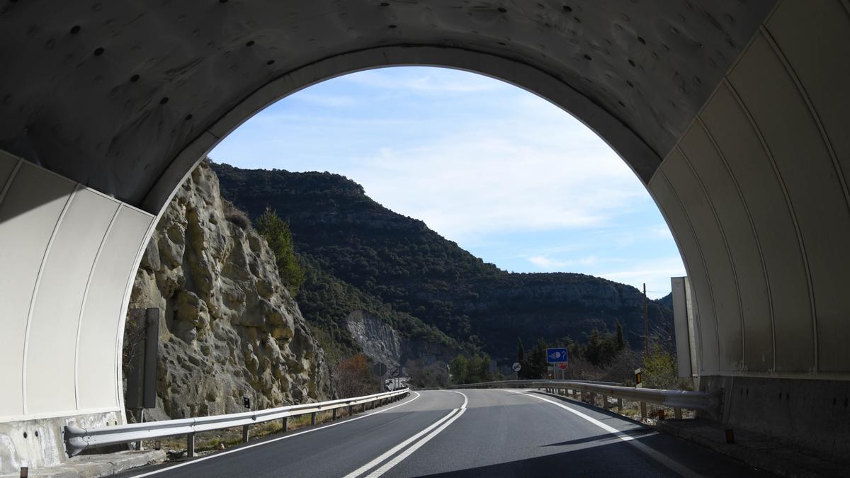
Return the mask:
<path id="1" fill-rule="evenodd" d="M 201 164 L 156 226 L 133 284 L 131 310 L 161 310 L 157 411 L 171 418 L 243 411 L 245 393 L 258 408 L 333 395 L 274 254 L 227 209 Z"/>

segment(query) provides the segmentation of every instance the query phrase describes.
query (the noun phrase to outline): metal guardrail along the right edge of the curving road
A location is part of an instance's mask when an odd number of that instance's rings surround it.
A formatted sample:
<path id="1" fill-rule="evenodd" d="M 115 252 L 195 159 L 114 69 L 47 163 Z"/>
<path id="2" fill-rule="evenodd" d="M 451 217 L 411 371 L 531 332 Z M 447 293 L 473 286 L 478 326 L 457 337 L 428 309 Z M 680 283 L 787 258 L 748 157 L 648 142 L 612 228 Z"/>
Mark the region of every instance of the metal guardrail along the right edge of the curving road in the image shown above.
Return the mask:
<path id="1" fill-rule="evenodd" d="M 655 403 L 666 407 L 672 407 L 677 418 L 681 418 L 681 409 L 706 410 L 716 412 L 720 407 L 720 395 L 689 390 L 659 390 L 638 389 L 637 387 L 624 387 L 621 385 L 599 384 L 577 380 L 502 380 L 498 382 L 483 382 L 480 384 L 452 385 L 452 389 L 481 389 L 481 388 L 528 388 L 546 390 L 564 390 L 569 395 L 573 393 L 590 394 L 590 400 L 596 403 L 595 395 L 603 396 L 603 405 L 607 409 L 608 401 L 605 397 L 618 399 L 618 408 L 622 409 L 623 400 L 638 401 L 641 403 L 641 415 L 646 418 L 646 404 Z"/>

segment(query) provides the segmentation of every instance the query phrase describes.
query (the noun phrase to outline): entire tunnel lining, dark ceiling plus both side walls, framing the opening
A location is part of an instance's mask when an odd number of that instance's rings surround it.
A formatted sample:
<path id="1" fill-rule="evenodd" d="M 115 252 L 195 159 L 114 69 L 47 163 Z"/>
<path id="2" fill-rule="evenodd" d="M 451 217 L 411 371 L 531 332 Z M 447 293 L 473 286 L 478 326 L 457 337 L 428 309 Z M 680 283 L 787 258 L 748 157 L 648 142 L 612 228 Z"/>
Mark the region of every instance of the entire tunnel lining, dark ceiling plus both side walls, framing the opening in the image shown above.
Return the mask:
<path id="1" fill-rule="evenodd" d="M 129 281 L 201 156 L 286 94 L 385 65 L 499 77 L 600 134 L 677 240 L 720 418 L 846 450 L 850 7 L 648 5 L 3 7 L 0 148 L 26 161 L 0 156 L 0 345 L 20 357 L 0 365 L 0 461 L 14 426 L 122 419 Z"/>

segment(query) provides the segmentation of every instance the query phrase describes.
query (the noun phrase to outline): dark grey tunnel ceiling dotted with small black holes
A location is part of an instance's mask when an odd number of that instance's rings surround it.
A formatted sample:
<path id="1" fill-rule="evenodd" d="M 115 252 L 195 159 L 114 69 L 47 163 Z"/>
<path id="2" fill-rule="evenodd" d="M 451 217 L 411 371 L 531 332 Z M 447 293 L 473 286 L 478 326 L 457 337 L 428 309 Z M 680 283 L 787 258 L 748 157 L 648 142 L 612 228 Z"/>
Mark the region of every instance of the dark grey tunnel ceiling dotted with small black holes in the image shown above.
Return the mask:
<path id="1" fill-rule="evenodd" d="M 140 204 L 180 151 L 275 78 L 349 52 L 430 45 L 546 72 L 660 162 L 772 4 L 4 0 L 0 148 Z M 649 181 L 657 165 L 632 168 Z"/>

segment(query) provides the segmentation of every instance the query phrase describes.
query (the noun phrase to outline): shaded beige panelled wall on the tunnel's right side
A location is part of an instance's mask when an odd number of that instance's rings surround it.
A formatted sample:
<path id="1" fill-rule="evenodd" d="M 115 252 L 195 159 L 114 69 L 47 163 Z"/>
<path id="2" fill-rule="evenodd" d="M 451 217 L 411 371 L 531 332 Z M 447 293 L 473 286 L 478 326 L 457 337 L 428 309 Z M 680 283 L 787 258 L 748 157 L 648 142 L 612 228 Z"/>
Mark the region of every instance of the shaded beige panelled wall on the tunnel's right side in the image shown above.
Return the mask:
<path id="1" fill-rule="evenodd" d="M 649 181 L 696 289 L 701 375 L 850 378 L 850 14 L 810 5 L 764 22 Z"/>

